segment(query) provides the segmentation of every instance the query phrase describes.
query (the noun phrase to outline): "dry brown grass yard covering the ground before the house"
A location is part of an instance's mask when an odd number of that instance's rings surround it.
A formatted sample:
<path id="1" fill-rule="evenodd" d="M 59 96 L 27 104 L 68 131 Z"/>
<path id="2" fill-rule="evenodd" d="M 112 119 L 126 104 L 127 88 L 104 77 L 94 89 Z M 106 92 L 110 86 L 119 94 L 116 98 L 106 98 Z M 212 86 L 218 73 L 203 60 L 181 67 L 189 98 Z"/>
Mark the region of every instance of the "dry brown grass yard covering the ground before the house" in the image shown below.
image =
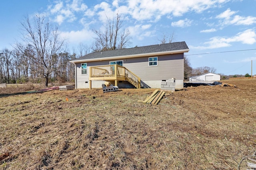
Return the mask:
<path id="1" fill-rule="evenodd" d="M 137 102 L 155 89 L 0 88 L 0 169 L 238 169 L 256 150 L 256 80 L 225 82 L 237 88 L 188 87 L 156 106 Z"/>

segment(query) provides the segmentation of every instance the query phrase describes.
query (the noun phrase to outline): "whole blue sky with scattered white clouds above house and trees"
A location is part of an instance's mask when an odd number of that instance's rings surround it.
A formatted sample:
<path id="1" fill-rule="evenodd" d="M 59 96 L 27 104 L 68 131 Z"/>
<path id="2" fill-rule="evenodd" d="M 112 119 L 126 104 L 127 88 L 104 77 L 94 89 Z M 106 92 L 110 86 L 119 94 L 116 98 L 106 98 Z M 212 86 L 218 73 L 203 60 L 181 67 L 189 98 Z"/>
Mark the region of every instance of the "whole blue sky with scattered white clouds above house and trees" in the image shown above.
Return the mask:
<path id="1" fill-rule="evenodd" d="M 164 36 L 185 41 L 192 68 L 214 67 L 223 75 L 256 74 L 256 0 L 4 0 L 0 50 L 22 37 L 21 22 L 43 14 L 58 26 L 70 53 L 95 41 L 107 18 L 121 16 L 129 47 L 159 44 Z M 129 48 L 127 47 L 127 48 Z M 252 69 L 251 69 L 252 68 Z"/>

